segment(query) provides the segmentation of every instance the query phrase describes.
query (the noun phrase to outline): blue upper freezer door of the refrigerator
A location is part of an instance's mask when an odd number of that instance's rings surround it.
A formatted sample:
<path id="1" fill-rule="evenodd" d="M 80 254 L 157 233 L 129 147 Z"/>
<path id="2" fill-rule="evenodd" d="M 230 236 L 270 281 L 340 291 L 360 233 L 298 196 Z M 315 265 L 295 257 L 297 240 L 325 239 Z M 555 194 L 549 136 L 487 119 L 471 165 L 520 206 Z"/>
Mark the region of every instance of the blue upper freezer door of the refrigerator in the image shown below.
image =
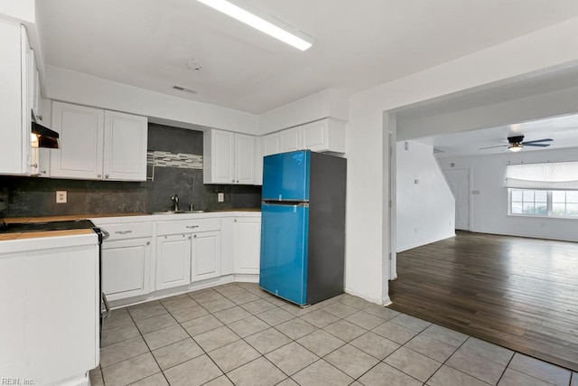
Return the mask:
<path id="1" fill-rule="evenodd" d="M 309 201 L 310 160 L 311 152 L 308 150 L 264 157 L 263 200 Z"/>

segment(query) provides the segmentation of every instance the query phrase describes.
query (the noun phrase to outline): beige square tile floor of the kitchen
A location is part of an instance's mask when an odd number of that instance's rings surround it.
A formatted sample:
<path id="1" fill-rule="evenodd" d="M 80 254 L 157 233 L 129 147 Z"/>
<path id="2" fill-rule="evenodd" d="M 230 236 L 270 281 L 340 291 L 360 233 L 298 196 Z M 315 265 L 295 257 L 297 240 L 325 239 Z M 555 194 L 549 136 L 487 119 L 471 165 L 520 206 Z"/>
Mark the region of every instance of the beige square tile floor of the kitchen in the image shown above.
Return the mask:
<path id="1" fill-rule="evenodd" d="M 93 385 L 564 385 L 578 373 L 350 295 L 232 283 L 116 309 Z"/>

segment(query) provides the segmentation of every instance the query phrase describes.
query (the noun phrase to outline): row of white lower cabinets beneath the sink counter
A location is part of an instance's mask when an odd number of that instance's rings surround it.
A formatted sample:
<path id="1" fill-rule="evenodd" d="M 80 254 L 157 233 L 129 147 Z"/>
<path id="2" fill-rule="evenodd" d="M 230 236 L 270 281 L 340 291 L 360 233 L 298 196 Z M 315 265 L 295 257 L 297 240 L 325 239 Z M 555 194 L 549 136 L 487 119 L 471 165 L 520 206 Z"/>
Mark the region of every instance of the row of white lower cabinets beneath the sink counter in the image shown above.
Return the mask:
<path id="1" fill-rule="evenodd" d="M 142 299 L 148 294 L 150 298 L 156 296 L 154 291 L 194 287 L 191 283 L 201 280 L 208 280 L 202 283 L 205 286 L 210 279 L 259 274 L 259 215 L 111 220 L 92 220 L 110 234 L 102 245 L 102 290 L 109 300 Z"/>

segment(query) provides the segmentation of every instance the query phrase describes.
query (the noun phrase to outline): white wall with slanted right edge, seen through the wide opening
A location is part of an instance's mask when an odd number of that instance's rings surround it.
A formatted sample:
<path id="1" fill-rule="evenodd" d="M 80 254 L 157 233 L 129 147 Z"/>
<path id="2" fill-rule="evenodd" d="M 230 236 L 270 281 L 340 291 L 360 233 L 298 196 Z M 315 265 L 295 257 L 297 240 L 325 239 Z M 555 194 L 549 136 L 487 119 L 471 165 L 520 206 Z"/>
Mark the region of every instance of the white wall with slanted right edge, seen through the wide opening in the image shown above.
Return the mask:
<path id="1" fill-rule="evenodd" d="M 433 146 L 398 142 L 396 159 L 396 250 L 455 236 L 455 200 Z"/>

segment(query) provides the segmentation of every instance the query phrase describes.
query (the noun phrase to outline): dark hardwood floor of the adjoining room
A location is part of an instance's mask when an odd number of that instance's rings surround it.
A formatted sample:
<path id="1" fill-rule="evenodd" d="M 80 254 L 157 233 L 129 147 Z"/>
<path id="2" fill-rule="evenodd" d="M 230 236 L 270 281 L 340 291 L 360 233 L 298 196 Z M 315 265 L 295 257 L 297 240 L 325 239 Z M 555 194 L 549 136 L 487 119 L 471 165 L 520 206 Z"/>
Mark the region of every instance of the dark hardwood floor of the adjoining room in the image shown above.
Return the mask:
<path id="1" fill-rule="evenodd" d="M 578 243 L 458 231 L 397 274 L 390 308 L 578 371 Z"/>

